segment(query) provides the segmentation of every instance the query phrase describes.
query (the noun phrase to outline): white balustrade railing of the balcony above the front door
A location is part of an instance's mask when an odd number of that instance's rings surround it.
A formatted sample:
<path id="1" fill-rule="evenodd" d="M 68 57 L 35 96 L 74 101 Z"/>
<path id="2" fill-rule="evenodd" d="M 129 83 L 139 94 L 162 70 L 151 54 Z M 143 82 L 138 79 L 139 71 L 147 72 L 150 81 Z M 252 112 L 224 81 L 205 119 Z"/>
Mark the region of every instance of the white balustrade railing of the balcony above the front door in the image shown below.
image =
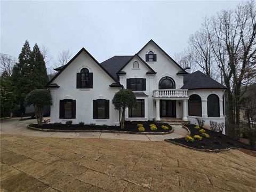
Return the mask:
<path id="1" fill-rule="evenodd" d="M 188 90 L 185 89 L 164 89 L 154 90 L 153 97 L 170 98 L 170 97 L 188 97 Z"/>

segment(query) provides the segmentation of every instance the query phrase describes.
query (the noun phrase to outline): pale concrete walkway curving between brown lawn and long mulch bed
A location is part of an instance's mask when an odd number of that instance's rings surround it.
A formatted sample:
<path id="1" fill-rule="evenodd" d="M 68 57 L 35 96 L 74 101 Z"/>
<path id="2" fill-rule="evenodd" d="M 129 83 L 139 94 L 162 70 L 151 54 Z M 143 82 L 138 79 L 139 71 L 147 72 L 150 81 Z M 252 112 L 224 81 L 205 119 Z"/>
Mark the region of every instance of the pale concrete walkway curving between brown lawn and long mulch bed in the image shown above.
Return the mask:
<path id="1" fill-rule="evenodd" d="M 165 135 L 141 135 L 124 133 L 97 133 L 97 132 L 44 132 L 27 129 L 27 125 L 36 123 L 36 119 L 19 121 L 19 118 L 1 120 L 1 134 L 20 134 L 32 137 L 53 137 L 53 138 L 104 138 L 138 141 L 163 141 L 185 137 L 188 132 L 182 126 L 173 126 L 174 132 Z"/>

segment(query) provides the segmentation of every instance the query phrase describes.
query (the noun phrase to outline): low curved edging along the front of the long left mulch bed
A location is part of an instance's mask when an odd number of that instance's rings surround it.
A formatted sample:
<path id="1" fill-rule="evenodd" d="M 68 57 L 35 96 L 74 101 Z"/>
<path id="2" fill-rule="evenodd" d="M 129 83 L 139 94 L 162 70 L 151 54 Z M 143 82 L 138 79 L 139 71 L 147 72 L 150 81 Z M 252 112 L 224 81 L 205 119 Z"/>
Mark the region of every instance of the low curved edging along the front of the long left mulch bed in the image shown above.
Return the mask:
<path id="1" fill-rule="evenodd" d="M 174 129 L 168 132 L 133 132 L 133 131 L 111 131 L 111 130 L 50 130 L 50 129 L 40 129 L 33 126 L 28 125 L 28 129 L 35 131 L 45 131 L 45 132 L 98 132 L 98 133 L 124 133 L 124 134 L 142 134 L 142 135 L 166 135 L 173 133 Z"/>

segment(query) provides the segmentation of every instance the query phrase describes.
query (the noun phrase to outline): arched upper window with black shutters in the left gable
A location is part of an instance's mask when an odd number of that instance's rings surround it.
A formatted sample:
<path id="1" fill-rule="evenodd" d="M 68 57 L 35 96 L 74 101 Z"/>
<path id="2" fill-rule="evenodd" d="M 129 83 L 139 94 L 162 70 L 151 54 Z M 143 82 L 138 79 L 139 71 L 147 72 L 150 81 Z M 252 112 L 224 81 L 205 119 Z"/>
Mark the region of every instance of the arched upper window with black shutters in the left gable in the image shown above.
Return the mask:
<path id="1" fill-rule="evenodd" d="M 76 74 L 76 88 L 87 89 L 93 87 L 93 74 L 89 73 L 87 68 L 81 69 L 80 73 Z"/>

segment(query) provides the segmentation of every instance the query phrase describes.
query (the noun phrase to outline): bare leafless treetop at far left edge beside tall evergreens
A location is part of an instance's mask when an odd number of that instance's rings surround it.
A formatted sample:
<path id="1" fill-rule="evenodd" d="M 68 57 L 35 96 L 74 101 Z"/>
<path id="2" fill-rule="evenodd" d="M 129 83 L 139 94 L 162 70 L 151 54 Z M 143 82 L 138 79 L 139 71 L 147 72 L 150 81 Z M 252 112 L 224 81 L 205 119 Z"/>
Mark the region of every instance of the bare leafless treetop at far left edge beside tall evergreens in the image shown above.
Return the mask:
<path id="1" fill-rule="evenodd" d="M 12 76 L 12 69 L 15 65 L 16 59 L 11 55 L 0 53 L 0 68 L 2 71 L 6 71 L 8 76 Z"/>

